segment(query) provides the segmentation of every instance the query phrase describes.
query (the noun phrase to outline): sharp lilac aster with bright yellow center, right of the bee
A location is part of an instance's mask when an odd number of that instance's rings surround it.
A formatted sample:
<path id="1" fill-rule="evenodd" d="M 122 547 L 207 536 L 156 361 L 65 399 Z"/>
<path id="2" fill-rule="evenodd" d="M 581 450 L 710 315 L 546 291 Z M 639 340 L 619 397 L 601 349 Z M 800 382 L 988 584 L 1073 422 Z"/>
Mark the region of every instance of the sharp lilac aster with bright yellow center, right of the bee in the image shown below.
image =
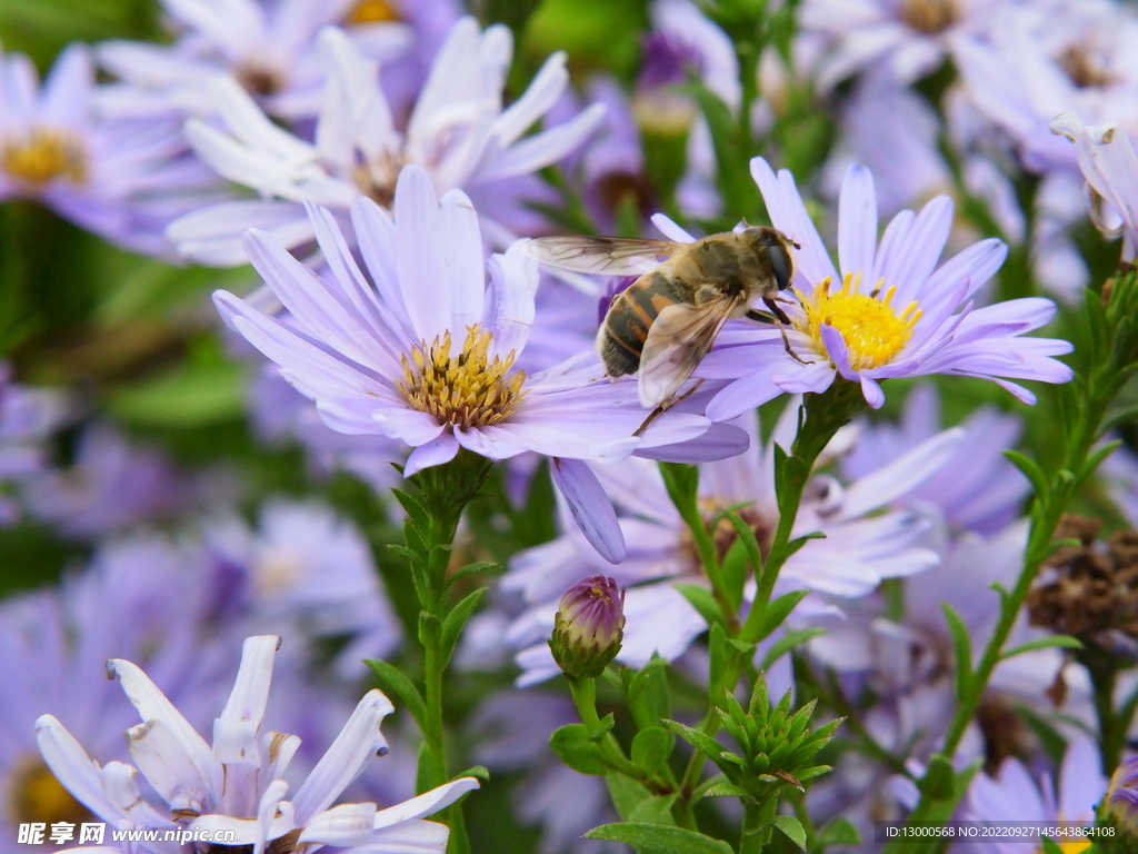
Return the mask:
<path id="1" fill-rule="evenodd" d="M 1052 319 L 1049 299 L 973 306 L 971 297 L 1007 255 L 1000 240 L 973 244 L 938 268 L 953 223 L 947 196 L 917 215 L 899 213 L 879 245 L 873 178 L 864 166 L 851 166 L 839 203 L 839 276 L 790 172 L 776 176 L 756 157 L 751 174 L 775 228 L 802 247 L 793 281 L 798 301 L 785 306 L 798 359 L 785 352 L 777 329 L 721 335 L 695 376 L 742 378 L 711 401 L 710 418 L 733 418 L 780 391 L 822 392 L 836 376 L 859 383 L 874 408 L 885 400 L 880 380 L 891 377 L 982 377 L 1024 403 L 1033 403 L 1034 395 L 1007 378 L 1071 379 L 1071 369 L 1052 358 L 1070 353 L 1070 344 L 1020 337 Z"/>

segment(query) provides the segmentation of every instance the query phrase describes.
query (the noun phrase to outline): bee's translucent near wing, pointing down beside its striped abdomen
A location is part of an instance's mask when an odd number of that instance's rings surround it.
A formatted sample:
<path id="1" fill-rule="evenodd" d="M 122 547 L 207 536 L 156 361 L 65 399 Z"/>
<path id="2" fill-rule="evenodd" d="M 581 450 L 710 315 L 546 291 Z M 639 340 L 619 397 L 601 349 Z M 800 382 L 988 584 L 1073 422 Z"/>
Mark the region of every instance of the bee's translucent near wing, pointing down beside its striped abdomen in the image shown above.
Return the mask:
<path id="1" fill-rule="evenodd" d="M 671 400 L 708 354 L 723 325 L 742 302 L 717 299 L 699 309 L 675 303 L 652 321 L 641 352 L 641 405 L 654 409 Z"/>

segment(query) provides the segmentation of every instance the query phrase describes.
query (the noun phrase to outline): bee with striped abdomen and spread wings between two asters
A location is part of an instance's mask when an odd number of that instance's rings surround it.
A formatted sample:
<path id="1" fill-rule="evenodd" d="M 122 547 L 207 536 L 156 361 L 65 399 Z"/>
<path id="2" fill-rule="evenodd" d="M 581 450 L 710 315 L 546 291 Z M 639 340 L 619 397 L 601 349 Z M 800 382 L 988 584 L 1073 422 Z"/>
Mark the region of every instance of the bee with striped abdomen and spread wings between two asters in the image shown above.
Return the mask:
<path id="1" fill-rule="evenodd" d="M 802 361 L 786 337 L 790 318 L 777 304 L 794 278 L 791 246 L 801 248 L 776 229 L 749 227 L 691 244 L 539 237 L 527 252 L 562 270 L 640 277 L 613 298 L 596 347 L 610 377 L 638 371 L 641 404 L 654 409 L 654 417 L 676 402 L 728 320 L 777 326 L 786 352 Z M 766 311 L 751 307 L 756 299 Z"/>

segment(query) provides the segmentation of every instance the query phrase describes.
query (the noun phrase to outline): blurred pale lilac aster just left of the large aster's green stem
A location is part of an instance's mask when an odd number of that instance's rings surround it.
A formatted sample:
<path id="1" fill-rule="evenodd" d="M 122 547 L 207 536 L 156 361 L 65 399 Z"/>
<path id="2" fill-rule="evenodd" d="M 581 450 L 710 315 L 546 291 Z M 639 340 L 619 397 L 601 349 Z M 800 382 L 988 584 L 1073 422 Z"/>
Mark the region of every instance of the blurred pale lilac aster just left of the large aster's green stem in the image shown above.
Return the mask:
<path id="1" fill-rule="evenodd" d="M 256 531 L 223 519 L 207 528 L 206 541 L 226 570 L 226 607 L 244 602 L 246 623 L 288 629 L 290 638 L 351 638 L 336 658 L 341 676 L 361 675 L 363 658 L 386 658 L 398 643 L 371 549 L 331 508 L 269 501 Z"/>

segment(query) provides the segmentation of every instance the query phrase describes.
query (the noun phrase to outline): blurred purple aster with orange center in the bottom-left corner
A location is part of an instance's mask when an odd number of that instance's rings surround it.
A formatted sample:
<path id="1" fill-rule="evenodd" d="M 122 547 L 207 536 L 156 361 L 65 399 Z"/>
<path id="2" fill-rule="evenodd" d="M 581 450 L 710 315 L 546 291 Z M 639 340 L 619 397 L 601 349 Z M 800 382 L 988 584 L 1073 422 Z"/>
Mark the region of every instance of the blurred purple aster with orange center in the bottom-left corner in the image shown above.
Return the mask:
<path id="1" fill-rule="evenodd" d="M 40 756 L 35 721 L 44 709 L 97 755 L 127 758 L 122 731 L 132 721 L 104 675 L 107 658 L 145 660 L 190 721 L 209 721 L 218 678 L 236 656 L 211 619 L 204 558 L 155 534 L 104 542 L 59 588 L 0 603 L 0 851 L 25 849 L 16 841 L 20 822 L 92 820 Z"/>

